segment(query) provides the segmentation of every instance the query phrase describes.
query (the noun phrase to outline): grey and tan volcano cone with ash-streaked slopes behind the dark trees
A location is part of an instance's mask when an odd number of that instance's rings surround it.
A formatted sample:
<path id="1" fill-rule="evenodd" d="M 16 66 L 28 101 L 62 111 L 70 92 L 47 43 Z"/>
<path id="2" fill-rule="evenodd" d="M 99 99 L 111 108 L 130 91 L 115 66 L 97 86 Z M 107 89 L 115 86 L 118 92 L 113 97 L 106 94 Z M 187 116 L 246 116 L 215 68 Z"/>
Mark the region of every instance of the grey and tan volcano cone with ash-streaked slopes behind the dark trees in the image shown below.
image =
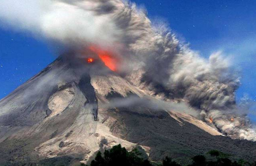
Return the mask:
<path id="1" fill-rule="evenodd" d="M 151 161 L 186 161 L 213 149 L 256 160 L 255 142 L 228 138 L 191 115 L 140 104 L 106 107 L 129 97 L 158 100 L 101 61 L 60 56 L 0 100 L 0 165 L 89 163 L 117 144 Z"/>

